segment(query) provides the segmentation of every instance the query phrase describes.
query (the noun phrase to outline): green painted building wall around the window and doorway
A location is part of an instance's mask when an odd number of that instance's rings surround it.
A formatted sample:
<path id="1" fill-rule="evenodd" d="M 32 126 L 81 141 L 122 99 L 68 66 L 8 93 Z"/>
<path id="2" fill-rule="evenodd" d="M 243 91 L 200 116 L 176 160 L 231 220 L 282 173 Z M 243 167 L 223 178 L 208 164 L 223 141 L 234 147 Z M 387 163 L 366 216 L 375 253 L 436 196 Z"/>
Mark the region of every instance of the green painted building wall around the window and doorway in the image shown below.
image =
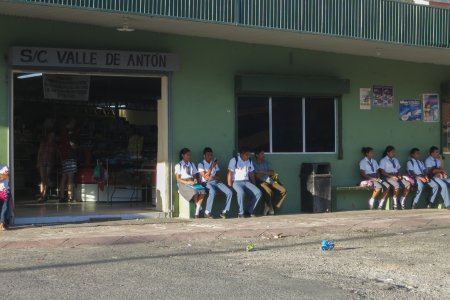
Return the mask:
<path id="1" fill-rule="evenodd" d="M 205 24 L 205 26 L 207 26 Z M 450 80 L 450 68 L 407 63 L 383 58 L 306 51 L 277 46 L 176 36 L 150 32 L 121 33 L 114 28 L 56 23 L 24 18 L 0 17 L 0 54 L 11 46 L 93 48 L 160 51 L 176 53 L 180 70 L 171 81 L 173 120 L 173 162 L 178 150 L 188 147 L 195 162 L 204 146 L 211 146 L 219 159 L 222 176 L 235 151 L 236 74 L 281 74 L 334 76 L 350 80 L 350 93 L 342 97 L 342 149 L 337 154 L 268 154 L 288 190 L 282 213 L 300 211 L 299 172 L 303 162 L 330 162 L 333 185 L 354 185 L 359 179 L 358 162 L 362 146 L 372 146 L 380 157 L 392 144 L 404 165 L 411 147 L 425 156 L 431 145 L 440 144 L 440 124 L 401 122 L 400 99 L 420 99 L 423 93 L 439 92 L 441 82 Z M 405 50 L 407 51 L 407 50 Z M 8 102 L 7 62 L 0 60 L 0 161 L 7 157 Z M 359 109 L 359 88 L 374 84 L 393 85 L 393 108 Z M 404 167 L 404 166 L 403 166 Z M 175 181 L 173 181 L 175 183 Z M 174 185 L 175 186 L 175 185 Z M 356 194 L 355 194 L 356 195 Z M 367 194 L 347 197 L 336 204 L 339 210 L 363 208 Z M 178 196 L 174 189 L 175 207 Z M 236 203 L 234 201 L 233 205 Z M 215 206 L 215 209 L 219 209 Z M 175 212 L 175 215 L 177 212 Z"/>

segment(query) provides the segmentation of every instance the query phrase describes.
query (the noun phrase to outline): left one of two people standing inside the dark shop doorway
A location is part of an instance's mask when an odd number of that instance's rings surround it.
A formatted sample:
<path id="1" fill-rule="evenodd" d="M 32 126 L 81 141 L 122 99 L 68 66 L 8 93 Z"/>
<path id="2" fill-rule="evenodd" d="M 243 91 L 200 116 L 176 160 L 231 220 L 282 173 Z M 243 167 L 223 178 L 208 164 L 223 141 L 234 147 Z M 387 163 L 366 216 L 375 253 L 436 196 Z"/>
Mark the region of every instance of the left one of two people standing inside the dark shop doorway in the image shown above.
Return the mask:
<path id="1" fill-rule="evenodd" d="M 55 133 L 49 131 L 44 135 L 41 144 L 39 145 L 39 151 L 37 155 L 37 168 L 39 170 L 39 176 L 41 182 L 39 184 L 39 199 L 38 202 L 47 201 L 47 186 L 49 182 L 49 176 L 52 173 L 56 159 L 56 143 Z"/>

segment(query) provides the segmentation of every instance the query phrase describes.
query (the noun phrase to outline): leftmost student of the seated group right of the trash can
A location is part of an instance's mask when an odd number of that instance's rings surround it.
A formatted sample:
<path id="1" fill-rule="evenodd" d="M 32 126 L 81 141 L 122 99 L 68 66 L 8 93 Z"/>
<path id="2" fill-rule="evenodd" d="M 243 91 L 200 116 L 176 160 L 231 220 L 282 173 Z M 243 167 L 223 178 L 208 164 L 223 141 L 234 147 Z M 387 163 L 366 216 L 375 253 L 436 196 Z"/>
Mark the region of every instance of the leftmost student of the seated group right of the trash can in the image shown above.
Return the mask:
<path id="1" fill-rule="evenodd" d="M 372 197 L 369 199 L 369 208 L 373 209 L 376 197 L 381 191 L 383 191 L 381 194 L 381 199 L 378 203 L 378 209 L 383 209 L 390 186 L 387 182 L 382 181 L 380 178 L 378 163 L 375 159 L 373 159 L 375 156 L 373 148 L 363 147 L 361 152 L 364 155 L 364 158 L 359 162 L 359 172 L 361 178 L 363 179 L 361 185 L 369 181 L 374 188 Z"/>

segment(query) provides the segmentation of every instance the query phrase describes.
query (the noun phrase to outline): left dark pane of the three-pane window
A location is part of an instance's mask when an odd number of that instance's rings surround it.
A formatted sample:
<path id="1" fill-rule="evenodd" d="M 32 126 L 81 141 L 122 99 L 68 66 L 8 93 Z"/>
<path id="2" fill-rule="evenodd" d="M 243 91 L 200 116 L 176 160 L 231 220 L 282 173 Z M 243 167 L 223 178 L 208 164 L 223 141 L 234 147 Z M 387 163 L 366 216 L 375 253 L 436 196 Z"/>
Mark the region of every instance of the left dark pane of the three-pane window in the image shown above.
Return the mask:
<path id="1" fill-rule="evenodd" d="M 270 151 L 269 98 L 238 98 L 238 146 Z"/>

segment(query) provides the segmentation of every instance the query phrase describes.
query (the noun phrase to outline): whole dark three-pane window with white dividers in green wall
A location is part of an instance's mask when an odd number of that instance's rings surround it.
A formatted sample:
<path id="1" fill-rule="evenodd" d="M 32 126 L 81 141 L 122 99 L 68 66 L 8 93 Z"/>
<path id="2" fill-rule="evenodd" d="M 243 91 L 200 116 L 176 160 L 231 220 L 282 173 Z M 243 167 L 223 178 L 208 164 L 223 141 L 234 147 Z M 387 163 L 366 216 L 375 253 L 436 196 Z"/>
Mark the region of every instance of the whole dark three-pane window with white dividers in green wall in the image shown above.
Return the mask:
<path id="1" fill-rule="evenodd" d="M 238 146 L 271 153 L 335 153 L 336 98 L 238 97 Z"/>

